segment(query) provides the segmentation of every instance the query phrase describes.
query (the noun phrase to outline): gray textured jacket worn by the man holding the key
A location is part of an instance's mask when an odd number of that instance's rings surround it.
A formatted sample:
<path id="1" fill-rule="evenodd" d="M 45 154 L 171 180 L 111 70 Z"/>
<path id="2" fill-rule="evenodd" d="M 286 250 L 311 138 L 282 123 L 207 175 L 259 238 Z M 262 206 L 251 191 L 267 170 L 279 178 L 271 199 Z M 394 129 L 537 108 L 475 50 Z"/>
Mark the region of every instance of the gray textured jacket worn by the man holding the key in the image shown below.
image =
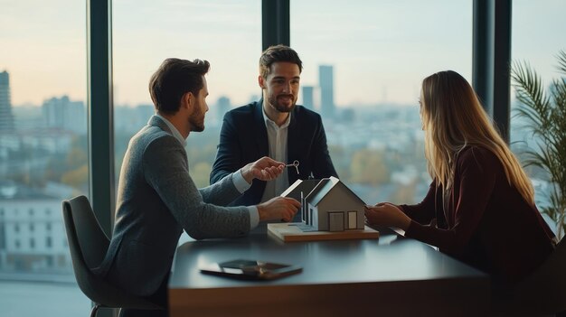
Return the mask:
<path id="1" fill-rule="evenodd" d="M 197 189 L 184 146 L 163 119 L 151 117 L 127 147 L 112 240 L 95 274 L 132 294 L 154 294 L 171 269 L 183 229 L 196 239 L 250 231 L 246 207 L 221 207 L 240 195 L 231 177 Z"/>

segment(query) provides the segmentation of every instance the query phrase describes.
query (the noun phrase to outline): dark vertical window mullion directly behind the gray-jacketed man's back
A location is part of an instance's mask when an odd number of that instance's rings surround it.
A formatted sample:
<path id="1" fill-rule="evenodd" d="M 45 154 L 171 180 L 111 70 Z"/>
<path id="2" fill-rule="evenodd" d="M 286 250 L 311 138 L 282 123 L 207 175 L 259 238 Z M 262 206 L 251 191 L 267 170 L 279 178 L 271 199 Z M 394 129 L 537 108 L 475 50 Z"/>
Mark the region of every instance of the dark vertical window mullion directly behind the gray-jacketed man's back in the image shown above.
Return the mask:
<path id="1" fill-rule="evenodd" d="M 114 216 L 111 1 L 87 0 L 90 203 L 108 237 Z"/>

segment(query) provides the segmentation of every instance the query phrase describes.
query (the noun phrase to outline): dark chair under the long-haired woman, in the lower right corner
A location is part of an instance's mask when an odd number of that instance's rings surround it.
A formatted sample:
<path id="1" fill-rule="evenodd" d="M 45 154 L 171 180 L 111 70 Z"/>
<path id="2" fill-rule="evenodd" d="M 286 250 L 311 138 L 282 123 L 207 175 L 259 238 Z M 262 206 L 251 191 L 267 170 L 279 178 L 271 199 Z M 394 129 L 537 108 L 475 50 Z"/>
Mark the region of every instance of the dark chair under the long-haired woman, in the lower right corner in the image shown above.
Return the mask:
<path id="1" fill-rule="evenodd" d="M 562 238 L 551 256 L 508 294 L 497 298 L 495 312 L 514 316 L 566 316 L 566 239 Z"/>

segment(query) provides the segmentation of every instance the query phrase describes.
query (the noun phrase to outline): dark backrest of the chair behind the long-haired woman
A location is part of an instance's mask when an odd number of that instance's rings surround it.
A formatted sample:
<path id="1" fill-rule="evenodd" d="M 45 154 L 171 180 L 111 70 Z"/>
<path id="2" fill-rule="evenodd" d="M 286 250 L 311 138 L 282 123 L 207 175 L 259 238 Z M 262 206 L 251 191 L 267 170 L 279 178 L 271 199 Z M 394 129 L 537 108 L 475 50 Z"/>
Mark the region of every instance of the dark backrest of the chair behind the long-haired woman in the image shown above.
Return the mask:
<path id="1" fill-rule="evenodd" d="M 566 311 L 566 239 L 561 239 L 542 266 L 517 284 L 514 300 L 525 303 L 526 312 Z"/>

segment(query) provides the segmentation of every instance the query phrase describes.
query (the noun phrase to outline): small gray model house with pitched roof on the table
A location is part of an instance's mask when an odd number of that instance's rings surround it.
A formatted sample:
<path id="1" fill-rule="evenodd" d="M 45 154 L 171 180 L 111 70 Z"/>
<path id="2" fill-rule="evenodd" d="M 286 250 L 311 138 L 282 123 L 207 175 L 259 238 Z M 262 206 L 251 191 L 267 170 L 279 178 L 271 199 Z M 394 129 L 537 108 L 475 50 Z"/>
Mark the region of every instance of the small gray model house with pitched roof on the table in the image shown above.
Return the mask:
<path id="1" fill-rule="evenodd" d="M 301 202 L 300 221 L 312 230 L 344 231 L 364 228 L 365 203 L 335 177 L 320 181 L 297 180 L 281 196 Z"/>

